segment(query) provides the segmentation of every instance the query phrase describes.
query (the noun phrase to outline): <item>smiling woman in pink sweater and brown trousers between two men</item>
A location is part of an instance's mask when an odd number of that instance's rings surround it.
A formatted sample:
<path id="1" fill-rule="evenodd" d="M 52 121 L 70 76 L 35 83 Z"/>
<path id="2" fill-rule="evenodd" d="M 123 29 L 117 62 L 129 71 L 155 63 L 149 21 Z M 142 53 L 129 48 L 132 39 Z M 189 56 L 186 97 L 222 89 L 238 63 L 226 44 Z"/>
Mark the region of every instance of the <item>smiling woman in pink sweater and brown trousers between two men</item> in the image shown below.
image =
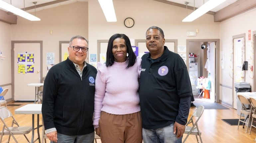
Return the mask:
<path id="1" fill-rule="evenodd" d="M 94 120 L 102 143 L 141 143 L 139 83 L 141 58 L 125 34 L 108 41 L 106 64 L 98 63 Z"/>

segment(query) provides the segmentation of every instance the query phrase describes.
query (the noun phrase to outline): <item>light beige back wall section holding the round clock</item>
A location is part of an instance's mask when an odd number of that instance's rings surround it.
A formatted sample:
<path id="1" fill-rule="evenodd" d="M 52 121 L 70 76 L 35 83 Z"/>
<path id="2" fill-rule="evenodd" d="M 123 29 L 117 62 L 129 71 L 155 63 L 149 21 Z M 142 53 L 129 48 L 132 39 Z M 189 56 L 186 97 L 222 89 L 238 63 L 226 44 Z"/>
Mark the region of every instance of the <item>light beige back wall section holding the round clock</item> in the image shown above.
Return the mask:
<path id="1" fill-rule="evenodd" d="M 219 39 L 219 22 L 213 22 L 212 15 L 182 22 L 187 16 L 185 8 L 153 0 L 113 0 L 117 22 L 107 22 L 98 1 L 88 3 L 90 53 L 97 53 L 97 40 L 108 40 L 115 33 L 124 33 L 131 39 L 145 39 L 150 26 L 162 28 L 165 39 L 178 39 L 178 45 L 186 45 L 186 39 Z M 132 28 L 124 26 L 124 19 L 128 17 L 135 21 Z M 187 31 L 195 29 L 199 29 L 197 36 L 186 36 Z"/>

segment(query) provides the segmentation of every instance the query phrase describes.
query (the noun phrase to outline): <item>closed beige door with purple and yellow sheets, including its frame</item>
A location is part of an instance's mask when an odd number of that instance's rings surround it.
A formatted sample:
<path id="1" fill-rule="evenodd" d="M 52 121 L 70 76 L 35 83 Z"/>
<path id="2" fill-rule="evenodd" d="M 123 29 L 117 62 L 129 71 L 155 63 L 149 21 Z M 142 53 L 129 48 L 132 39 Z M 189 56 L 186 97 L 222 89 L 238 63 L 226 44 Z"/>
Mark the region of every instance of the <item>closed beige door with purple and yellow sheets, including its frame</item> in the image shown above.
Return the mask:
<path id="1" fill-rule="evenodd" d="M 27 84 L 42 83 L 42 55 L 43 41 L 12 41 L 12 100 L 35 99 L 35 89 Z"/>

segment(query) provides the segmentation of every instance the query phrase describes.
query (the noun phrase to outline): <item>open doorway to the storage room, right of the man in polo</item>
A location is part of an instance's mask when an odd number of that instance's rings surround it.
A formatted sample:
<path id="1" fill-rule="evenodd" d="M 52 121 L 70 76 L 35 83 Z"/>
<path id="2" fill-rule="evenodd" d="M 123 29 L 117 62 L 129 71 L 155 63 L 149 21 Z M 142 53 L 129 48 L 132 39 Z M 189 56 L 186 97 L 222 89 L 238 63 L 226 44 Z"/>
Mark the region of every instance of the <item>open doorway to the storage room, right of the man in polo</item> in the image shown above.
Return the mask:
<path id="1" fill-rule="evenodd" d="M 201 49 L 201 45 L 205 44 L 207 47 L 210 48 L 210 65 L 209 66 L 209 70 L 211 71 L 210 73 L 210 78 L 211 78 L 211 89 L 210 89 L 210 102 L 219 102 L 219 79 L 218 79 L 218 75 L 219 75 L 219 39 L 187 39 L 187 61 L 186 61 L 186 65 L 188 68 L 188 71 L 190 72 L 190 62 L 189 62 L 189 53 L 191 52 L 190 50 L 192 49 L 192 45 L 197 45 L 196 46 L 196 51 L 197 53 L 201 53 L 201 57 L 197 57 L 197 59 L 199 58 L 200 63 L 198 64 L 198 68 L 200 68 L 201 70 L 198 71 L 198 77 L 204 75 L 204 76 L 208 76 L 208 72 L 206 71 L 205 67 L 205 63 L 206 63 L 206 59 L 207 59 L 207 48 L 205 49 Z M 196 54 L 196 53 L 195 53 Z M 197 84 L 197 81 L 195 82 Z M 196 86 L 194 86 L 196 87 Z"/>

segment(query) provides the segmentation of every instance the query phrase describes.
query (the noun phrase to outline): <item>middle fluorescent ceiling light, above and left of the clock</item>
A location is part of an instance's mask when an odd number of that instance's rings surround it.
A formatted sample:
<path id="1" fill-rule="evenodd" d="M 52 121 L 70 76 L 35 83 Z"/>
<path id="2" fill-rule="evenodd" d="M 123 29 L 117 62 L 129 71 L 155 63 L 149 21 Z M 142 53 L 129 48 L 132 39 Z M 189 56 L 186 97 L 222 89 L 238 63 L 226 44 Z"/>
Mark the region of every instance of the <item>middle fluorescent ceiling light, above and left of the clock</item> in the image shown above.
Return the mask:
<path id="1" fill-rule="evenodd" d="M 108 22 L 116 22 L 116 14 L 112 0 L 98 0 Z"/>

